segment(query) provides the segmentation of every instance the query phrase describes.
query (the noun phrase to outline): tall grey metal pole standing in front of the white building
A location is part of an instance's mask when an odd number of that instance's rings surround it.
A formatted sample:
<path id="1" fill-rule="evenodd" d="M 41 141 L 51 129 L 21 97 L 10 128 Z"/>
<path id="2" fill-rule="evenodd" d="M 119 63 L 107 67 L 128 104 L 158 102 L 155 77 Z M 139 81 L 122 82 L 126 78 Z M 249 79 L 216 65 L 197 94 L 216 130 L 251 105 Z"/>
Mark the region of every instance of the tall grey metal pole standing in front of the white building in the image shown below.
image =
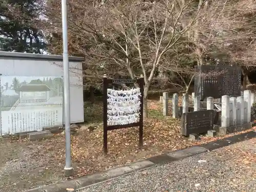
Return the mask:
<path id="1" fill-rule="evenodd" d="M 65 135 L 66 135 L 66 166 L 64 168 L 67 177 L 73 175 L 71 165 L 71 138 L 70 138 L 70 85 L 69 85 L 69 55 L 68 55 L 68 18 L 67 0 L 61 0 L 62 12 L 62 39 L 63 39 L 63 81 L 64 81 L 64 105 L 65 105 Z"/>

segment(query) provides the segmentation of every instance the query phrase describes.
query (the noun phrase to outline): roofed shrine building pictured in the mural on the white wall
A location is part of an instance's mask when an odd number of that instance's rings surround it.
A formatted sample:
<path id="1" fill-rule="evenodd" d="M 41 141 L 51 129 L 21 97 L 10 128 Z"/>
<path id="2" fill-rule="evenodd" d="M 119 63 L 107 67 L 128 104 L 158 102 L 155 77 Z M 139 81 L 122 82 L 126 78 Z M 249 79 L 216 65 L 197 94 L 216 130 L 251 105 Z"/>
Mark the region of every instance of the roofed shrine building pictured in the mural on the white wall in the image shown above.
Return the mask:
<path id="1" fill-rule="evenodd" d="M 51 89 L 46 84 L 23 84 L 19 88 L 19 102 L 47 102 Z"/>

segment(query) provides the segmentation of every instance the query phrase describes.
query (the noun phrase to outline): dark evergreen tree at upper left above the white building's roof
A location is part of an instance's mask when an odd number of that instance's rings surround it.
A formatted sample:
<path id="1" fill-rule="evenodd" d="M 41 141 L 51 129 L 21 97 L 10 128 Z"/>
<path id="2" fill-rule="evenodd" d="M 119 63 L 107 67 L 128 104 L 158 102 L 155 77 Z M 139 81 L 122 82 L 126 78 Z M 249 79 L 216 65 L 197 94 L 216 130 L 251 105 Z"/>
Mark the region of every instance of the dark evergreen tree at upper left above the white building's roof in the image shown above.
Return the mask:
<path id="1" fill-rule="evenodd" d="M 0 51 L 42 53 L 46 43 L 33 23 L 41 16 L 39 0 L 0 0 Z"/>

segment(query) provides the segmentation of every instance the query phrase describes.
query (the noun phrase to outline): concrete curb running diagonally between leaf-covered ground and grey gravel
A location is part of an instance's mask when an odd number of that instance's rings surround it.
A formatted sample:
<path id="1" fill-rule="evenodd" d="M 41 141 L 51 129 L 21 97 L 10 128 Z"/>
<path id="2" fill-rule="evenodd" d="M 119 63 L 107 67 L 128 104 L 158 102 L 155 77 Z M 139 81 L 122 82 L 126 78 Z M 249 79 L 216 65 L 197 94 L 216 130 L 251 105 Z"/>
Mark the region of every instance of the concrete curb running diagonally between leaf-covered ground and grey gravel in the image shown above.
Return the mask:
<path id="1" fill-rule="evenodd" d="M 250 131 L 240 135 L 234 135 L 228 138 L 212 141 L 210 143 L 191 146 L 189 148 L 185 148 L 184 150 L 178 150 L 172 153 L 150 157 L 131 164 L 103 170 L 102 172 L 83 176 L 78 179 L 61 181 L 56 184 L 50 184 L 47 186 L 30 189 L 26 192 L 66 192 L 66 188 L 74 188 L 77 191 L 79 189 L 86 188 L 100 182 L 112 180 L 125 175 L 130 175 L 141 170 L 184 159 L 189 156 L 216 150 L 218 148 L 245 141 L 254 137 L 256 137 L 256 131 Z"/>

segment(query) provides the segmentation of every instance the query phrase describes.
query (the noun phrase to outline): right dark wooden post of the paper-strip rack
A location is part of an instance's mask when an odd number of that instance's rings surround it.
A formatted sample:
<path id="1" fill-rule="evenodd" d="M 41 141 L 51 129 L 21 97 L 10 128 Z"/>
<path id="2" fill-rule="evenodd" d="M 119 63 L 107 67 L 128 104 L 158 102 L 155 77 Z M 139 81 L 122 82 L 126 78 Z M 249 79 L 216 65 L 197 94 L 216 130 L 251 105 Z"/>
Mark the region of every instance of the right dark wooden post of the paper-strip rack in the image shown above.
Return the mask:
<path id="1" fill-rule="evenodd" d="M 143 100 L 144 100 L 144 77 L 140 75 L 140 126 L 139 126 L 139 147 L 143 147 Z M 145 101 L 146 102 L 146 101 Z"/>

